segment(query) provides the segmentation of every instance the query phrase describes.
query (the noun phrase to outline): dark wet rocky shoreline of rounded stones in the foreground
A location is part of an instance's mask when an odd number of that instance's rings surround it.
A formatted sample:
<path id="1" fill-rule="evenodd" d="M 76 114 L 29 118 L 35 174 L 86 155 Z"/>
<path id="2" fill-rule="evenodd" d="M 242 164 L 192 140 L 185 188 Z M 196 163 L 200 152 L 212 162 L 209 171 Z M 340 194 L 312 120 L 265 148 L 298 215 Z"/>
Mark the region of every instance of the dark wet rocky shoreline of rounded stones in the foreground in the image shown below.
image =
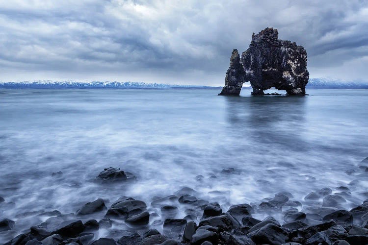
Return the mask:
<path id="1" fill-rule="evenodd" d="M 368 172 L 368 158 L 357 171 Z M 232 168 L 221 173 L 240 174 Z M 196 180 L 201 182 L 203 178 L 198 175 Z M 114 185 L 139 180 L 130 172 L 110 167 L 95 181 Z M 356 184 L 357 180 L 352 180 L 346 186 L 315 190 L 304 200 L 281 192 L 261 203 L 227 208 L 197 198 L 198 193 L 189 187 L 171 196 L 153 196 L 151 203 L 129 196 L 118 197 L 111 203 L 97 198 L 75 213 L 51 210 L 36 214 L 44 222 L 31 226 L 5 245 L 368 244 L 368 199 L 349 210 L 343 208 L 352 192 L 359 191 L 368 198 L 368 192 L 355 190 Z M 6 203 L 6 198 L 0 197 L 2 203 Z M 258 219 L 261 216 L 266 217 Z M 0 221 L 0 232 L 12 231 L 14 227 L 15 221 Z"/>

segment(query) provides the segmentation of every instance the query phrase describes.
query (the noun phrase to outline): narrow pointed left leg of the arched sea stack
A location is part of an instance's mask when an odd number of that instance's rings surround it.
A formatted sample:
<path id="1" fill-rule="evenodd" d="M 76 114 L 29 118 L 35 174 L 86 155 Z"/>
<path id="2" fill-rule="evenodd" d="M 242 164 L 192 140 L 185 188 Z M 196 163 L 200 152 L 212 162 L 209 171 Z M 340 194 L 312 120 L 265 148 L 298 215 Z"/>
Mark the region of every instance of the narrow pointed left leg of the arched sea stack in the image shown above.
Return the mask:
<path id="1" fill-rule="evenodd" d="M 225 86 L 218 95 L 239 95 L 243 82 L 247 82 L 244 67 L 240 62 L 240 55 L 234 49 L 230 57 L 230 66 L 226 72 Z"/>

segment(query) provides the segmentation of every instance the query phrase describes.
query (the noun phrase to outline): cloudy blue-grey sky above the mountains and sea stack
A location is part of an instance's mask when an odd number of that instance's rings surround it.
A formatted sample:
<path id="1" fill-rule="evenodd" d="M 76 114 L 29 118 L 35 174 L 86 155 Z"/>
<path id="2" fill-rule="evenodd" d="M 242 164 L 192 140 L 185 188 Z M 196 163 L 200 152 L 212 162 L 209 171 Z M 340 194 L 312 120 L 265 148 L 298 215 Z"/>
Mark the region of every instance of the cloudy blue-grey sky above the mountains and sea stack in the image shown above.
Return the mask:
<path id="1" fill-rule="evenodd" d="M 368 0 L 0 0 L 0 81 L 221 86 L 265 27 L 311 78 L 368 80 Z"/>

